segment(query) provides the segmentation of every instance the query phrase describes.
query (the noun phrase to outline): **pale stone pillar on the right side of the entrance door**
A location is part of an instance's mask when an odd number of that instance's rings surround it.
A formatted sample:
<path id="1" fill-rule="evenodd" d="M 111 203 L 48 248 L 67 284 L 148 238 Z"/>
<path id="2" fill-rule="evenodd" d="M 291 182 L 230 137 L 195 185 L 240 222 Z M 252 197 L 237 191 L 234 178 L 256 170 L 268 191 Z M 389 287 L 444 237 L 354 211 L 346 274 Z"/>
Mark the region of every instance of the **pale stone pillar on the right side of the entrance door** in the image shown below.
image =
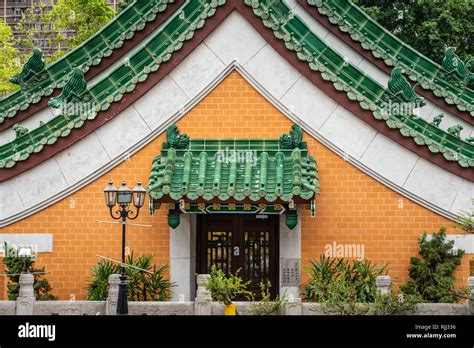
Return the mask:
<path id="1" fill-rule="evenodd" d="M 298 223 L 292 230 L 285 224 L 285 214 L 280 216 L 280 297 L 301 302 L 300 279 L 301 211 L 298 210 Z"/>

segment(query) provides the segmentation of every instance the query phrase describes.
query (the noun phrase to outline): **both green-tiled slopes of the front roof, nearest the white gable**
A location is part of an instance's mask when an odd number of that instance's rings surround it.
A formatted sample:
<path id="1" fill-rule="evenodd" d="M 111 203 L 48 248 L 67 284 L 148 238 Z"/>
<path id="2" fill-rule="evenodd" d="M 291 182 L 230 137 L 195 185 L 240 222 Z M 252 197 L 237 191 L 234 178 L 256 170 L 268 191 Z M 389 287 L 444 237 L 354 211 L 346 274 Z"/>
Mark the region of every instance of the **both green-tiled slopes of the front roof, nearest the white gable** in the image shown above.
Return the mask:
<path id="1" fill-rule="evenodd" d="M 300 60 L 306 62 L 311 70 L 320 73 L 335 89 L 345 92 L 362 109 L 371 111 L 375 119 L 398 129 L 403 136 L 413 138 L 418 145 L 427 146 L 433 153 L 442 153 L 448 161 L 456 161 L 466 168 L 474 167 L 474 145 L 423 119 L 386 112 L 387 103 L 419 98 L 407 89 L 407 86 L 411 86 L 403 81 L 403 76 L 393 84 L 395 89 L 387 89 L 326 45 L 304 21 L 290 11 L 284 1 L 245 0 L 245 3 L 252 6 L 264 25 L 271 28 L 274 35 L 289 50 L 294 51 Z M 77 86 L 83 85 L 82 82 L 74 86 L 66 85 L 63 99 L 67 101 L 71 97 L 76 101 L 79 99 L 85 103 L 94 103 L 95 108 L 87 112 L 61 114 L 30 132 L 21 132 L 15 140 L 0 146 L 0 169 L 11 168 L 17 162 L 26 160 L 32 153 L 42 151 L 60 137 L 67 137 L 74 128 L 81 128 L 89 120 L 95 119 L 98 113 L 108 110 L 112 103 L 120 102 L 124 94 L 132 93 L 137 84 L 146 81 L 149 74 L 160 69 L 163 62 L 169 61 L 174 52 L 191 40 L 195 31 L 202 28 L 207 18 L 212 17 L 218 7 L 224 4 L 225 0 L 187 1 L 132 50 L 120 65 L 107 74 L 101 74 L 85 91 L 76 90 Z M 52 102 L 52 105 L 59 104 Z"/>

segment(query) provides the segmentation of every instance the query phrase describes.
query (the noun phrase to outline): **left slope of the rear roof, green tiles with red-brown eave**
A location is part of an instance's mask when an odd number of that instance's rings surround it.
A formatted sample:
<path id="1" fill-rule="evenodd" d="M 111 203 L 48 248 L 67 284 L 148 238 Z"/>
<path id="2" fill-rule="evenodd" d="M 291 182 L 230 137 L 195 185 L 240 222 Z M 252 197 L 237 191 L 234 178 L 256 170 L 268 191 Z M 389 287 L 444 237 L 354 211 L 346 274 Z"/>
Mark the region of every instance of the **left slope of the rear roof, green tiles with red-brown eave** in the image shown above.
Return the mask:
<path id="1" fill-rule="evenodd" d="M 47 80 L 30 83 L 27 90 L 19 89 L 0 100 L 0 131 L 45 108 L 49 97 L 59 94 L 72 68 L 80 66 L 88 80 L 102 73 L 163 24 L 184 3 L 185 0 L 134 0 L 96 34 L 49 64 L 46 67 Z M 144 6 L 137 10 L 136 4 Z M 130 30 L 128 35 L 122 37 L 123 25 L 127 23 L 131 27 L 135 26 L 135 30 Z M 98 46 L 97 41 L 105 46 Z M 105 51 L 104 47 L 107 47 Z"/>

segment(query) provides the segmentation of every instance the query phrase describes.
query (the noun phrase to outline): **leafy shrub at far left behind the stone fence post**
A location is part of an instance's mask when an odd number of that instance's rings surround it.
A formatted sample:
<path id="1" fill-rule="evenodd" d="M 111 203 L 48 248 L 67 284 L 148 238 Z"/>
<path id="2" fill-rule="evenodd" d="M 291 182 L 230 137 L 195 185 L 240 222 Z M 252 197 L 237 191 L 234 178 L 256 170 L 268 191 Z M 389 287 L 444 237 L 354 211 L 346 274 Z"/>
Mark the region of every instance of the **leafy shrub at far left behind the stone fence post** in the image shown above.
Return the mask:
<path id="1" fill-rule="evenodd" d="M 7 295 L 10 301 L 15 301 L 20 293 L 20 274 L 22 272 L 32 273 L 34 276 L 34 292 L 36 300 L 48 301 L 57 300 L 51 294 L 52 287 L 48 280 L 44 277 L 46 273 L 45 267 L 36 268 L 35 261 L 32 257 L 18 256 L 18 249 L 7 243 L 4 244 L 5 257 L 5 273 L 8 276 Z"/>

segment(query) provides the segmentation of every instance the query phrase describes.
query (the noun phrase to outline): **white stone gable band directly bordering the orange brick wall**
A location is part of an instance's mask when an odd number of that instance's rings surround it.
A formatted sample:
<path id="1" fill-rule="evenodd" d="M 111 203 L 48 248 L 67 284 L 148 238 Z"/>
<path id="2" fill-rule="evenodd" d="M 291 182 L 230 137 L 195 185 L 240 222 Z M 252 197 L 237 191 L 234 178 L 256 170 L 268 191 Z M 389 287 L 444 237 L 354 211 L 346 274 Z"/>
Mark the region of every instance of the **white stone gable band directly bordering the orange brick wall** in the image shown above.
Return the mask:
<path id="1" fill-rule="evenodd" d="M 243 66 L 236 59 L 229 62 L 227 51 L 224 55 L 216 49 L 222 40 L 229 40 L 226 31 L 236 26 L 239 35 L 233 40 L 240 48 L 234 58 L 244 56 Z M 255 42 L 249 43 L 249 38 Z M 196 69 L 204 86 L 200 91 L 190 83 Z M 120 115 L 41 165 L 1 182 L 0 226 L 45 209 L 127 160 L 193 109 L 233 70 L 308 134 L 385 186 L 450 219 L 460 209 L 470 207 L 472 182 L 419 158 L 335 104 L 234 12 L 176 69 Z M 166 94 L 170 90 L 173 92 Z M 144 102 L 147 96 L 156 106 Z M 127 131 L 129 122 L 135 125 L 133 134 Z M 89 143 L 97 152 L 94 161 L 86 160 Z M 65 174 L 71 171 L 74 178 Z"/>

